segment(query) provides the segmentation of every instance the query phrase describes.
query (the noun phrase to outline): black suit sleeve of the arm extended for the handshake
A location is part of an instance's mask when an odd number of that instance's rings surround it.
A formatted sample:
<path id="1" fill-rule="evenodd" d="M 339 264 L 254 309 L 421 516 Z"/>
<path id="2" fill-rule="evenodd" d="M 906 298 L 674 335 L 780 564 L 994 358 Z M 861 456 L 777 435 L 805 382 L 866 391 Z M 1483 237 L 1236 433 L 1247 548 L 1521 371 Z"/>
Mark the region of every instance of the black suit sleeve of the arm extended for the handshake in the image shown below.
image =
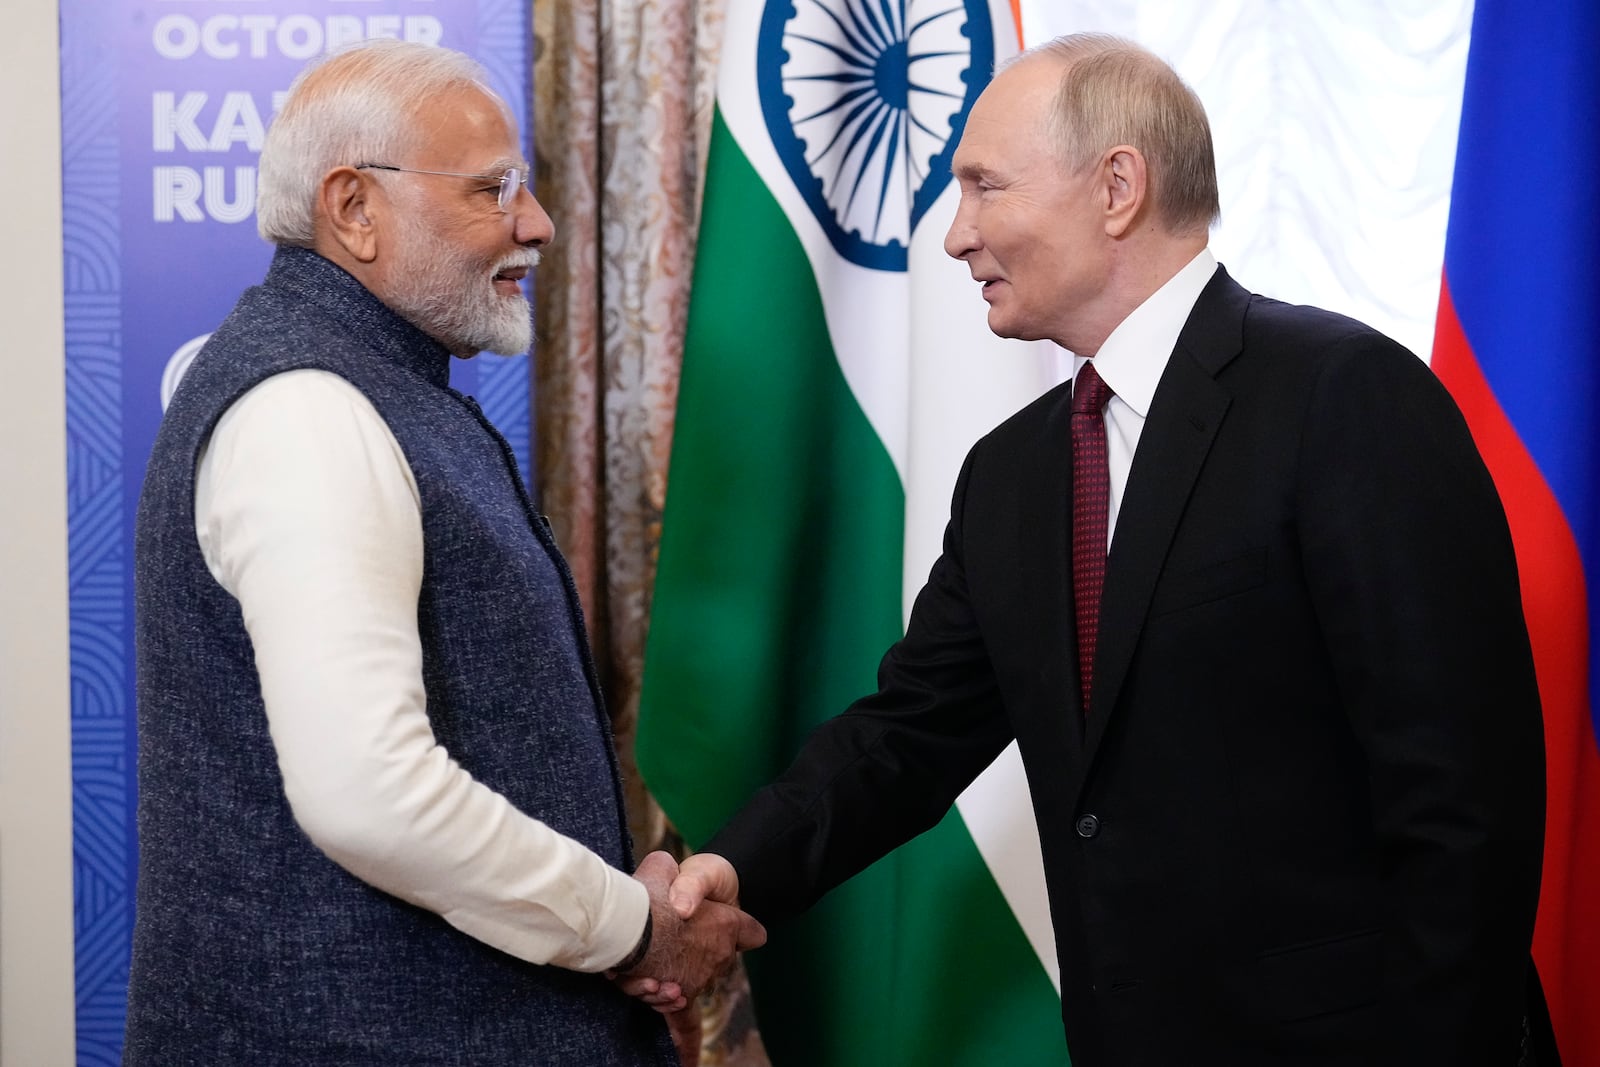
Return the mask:
<path id="1" fill-rule="evenodd" d="M 1011 742 L 963 566 L 955 486 L 944 552 L 917 593 L 878 689 L 822 723 L 800 755 L 706 845 L 739 872 L 739 899 L 765 923 L 795 915 L 944 817 Z"/>

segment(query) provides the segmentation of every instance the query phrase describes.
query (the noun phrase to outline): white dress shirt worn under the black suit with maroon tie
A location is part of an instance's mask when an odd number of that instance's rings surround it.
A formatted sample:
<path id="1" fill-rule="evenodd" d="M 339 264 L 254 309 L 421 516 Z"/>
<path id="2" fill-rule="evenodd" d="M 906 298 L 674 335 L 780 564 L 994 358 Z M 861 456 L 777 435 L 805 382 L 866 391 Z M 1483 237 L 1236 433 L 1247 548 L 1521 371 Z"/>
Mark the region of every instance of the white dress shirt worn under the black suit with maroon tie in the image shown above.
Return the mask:
<path id="1" fill-rule="evenodd" d="M 1106 523 L 1107 550 L 1117 533 L 1117 515 L 1122 496 L 1128 488 L 1128 470 L 1133 454 L 1139 450 L 1139 434 L 1150 414 L 1150 398 L 1166 370 L 1166 360 L 1178 344 L 1178 334 L 1189 322 L 1189 312 L 1200 299 L 1211 275 L 1216 274 L 1216 256 L 1210 248 L 1190 259 L 1182 270 L 1166 280 L 1142 304 L 1133 309 L 1110 331 L 1106 344 L 1094 354 L 1094 370 L 1101 381 L 1115 394 L 1106 402 L 1106 464 L 1110 467 L 1110 515 Z M 1078 371 L 1091 357 L 1074 357 L 1072 387 L 1077 389 Z"/>

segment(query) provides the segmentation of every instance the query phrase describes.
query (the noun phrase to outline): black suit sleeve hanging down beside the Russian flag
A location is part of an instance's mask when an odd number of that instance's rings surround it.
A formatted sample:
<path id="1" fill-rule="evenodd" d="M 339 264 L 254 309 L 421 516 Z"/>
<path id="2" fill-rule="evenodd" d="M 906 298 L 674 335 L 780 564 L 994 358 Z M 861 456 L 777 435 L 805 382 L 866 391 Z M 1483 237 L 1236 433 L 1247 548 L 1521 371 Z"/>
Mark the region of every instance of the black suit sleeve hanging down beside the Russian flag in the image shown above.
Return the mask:
<path id="1" fill-rule="evenodd" d="M 1480 1062 L 1520 1003 L 1544 739 L 1517 563 L 1464 421 L 1373 334 L 1328 360 L 1299 459 L 1306 579 L 1368 761 L 1397 1062 Z"/>

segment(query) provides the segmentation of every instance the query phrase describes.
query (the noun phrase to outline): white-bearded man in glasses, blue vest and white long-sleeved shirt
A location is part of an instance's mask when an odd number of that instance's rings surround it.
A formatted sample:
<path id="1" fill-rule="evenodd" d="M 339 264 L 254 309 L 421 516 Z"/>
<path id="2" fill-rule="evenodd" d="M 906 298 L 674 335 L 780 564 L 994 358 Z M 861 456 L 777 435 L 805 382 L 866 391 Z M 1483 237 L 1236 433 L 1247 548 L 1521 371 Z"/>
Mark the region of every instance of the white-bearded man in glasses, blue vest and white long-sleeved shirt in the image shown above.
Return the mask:
<path id="1" fill-rule="evenodd" d="M 523 352 L 554 229 L 466 56 L 306 70 L 278 246 L 173 397 L 139 502 L 128 1064 L 674 1064 L 605 973 L 765 939 L 635 877 L 571 576 L 451 355 Z"/>

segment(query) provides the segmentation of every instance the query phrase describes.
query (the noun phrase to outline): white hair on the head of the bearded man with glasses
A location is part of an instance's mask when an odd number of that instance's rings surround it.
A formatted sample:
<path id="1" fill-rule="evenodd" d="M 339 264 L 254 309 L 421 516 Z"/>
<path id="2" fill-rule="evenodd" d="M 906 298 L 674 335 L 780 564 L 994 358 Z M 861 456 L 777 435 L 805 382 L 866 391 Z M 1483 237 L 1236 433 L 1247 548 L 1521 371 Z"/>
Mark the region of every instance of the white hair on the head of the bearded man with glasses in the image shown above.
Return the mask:
<path id="1" fill-rule="evenodd" d="M 360 42 L 301 70 L 261 149 L 261 237 L 310 248 L 328 171 L 402 158 L 429 98 L 466 86 L 493 96 L 486 83 L 483 67 L 459 51 L 387 38 Z"/>

